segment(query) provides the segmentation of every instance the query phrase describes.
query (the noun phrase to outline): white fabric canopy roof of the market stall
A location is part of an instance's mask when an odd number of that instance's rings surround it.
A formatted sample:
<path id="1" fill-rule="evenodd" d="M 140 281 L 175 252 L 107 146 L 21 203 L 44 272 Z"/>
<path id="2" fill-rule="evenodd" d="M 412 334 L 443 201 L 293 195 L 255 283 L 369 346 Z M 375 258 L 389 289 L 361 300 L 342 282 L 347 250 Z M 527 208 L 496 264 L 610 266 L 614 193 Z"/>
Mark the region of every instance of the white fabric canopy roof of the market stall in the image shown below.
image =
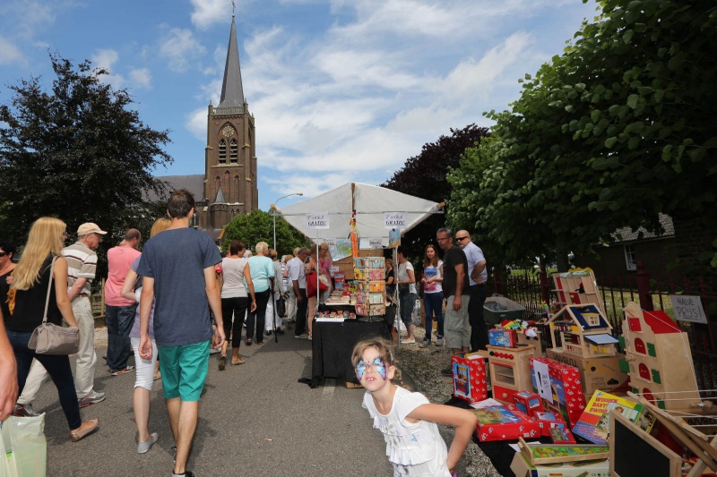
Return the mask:
<path id="1" fill-rule="evenodd" d="M 419 199 L 402 192 L 391 191 L 365 183 L 345 183 L 332 191 L 312 199 L 302 200 L 284 209 L 275 209 L 289 224 L 311 239 L 345 239 L 351 232 L 351 212 L 356 210 L 356 234 L 363 238 L 383 239 L 388 244 L 389 229 L 384 226 L 385 212 L 405 212 L 405 234 L 431 214 L 443 213 L 443 204 Z M 327 213 L 329 228 L 307 226 L 307 214 Z"/>

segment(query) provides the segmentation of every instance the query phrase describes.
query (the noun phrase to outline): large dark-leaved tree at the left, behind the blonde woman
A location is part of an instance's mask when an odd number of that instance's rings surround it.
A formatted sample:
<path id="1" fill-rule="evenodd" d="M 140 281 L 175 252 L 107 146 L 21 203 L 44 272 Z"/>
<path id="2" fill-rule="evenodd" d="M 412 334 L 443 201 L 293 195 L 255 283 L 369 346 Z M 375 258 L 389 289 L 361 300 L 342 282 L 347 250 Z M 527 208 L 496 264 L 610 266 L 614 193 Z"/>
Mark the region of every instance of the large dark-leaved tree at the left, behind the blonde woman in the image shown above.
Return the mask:
<path id="1" fill-rule="evenodd" d="M 0 106 L 0 228 L 22 243 L 37 217 L 56 216 L 68 232 L 91 221 L 117 237 L 137 226 L 125 218 L 144 213 L 143 193 L 163 192 L 151 171 L 172 161 L 168 132 L 143 124 L 125 89 L 101 81 L 106 70 L 50 61 L 50 90 L 22 80 Z"/>

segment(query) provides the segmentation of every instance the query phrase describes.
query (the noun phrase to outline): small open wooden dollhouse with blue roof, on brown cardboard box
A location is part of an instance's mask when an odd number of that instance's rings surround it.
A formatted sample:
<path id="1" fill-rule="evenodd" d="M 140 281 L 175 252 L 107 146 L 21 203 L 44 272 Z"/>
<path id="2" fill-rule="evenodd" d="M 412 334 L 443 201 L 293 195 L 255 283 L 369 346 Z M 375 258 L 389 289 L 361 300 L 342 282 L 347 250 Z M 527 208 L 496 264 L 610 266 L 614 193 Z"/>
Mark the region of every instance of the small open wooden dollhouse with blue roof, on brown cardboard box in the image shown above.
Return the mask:
<path id="1" fill-rule="evenodd" d="M 614 356 L 618 340 L 595 303 L 570 304 L 550 320 L 550 338 L 557 353 L 570 353 L 582 358 Z"/>

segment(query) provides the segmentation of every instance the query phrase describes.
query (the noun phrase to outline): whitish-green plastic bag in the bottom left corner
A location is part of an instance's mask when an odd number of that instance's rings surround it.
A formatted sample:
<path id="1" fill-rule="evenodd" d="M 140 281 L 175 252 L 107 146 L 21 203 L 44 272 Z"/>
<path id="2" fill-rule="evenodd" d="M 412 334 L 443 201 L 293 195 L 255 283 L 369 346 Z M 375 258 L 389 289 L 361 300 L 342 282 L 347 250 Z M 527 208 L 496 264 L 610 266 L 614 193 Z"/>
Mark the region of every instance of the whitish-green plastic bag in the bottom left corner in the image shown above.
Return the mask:
<path id="1" fill-rule="evenodd" d="M 45 414 L 33 417 L 10 416 L 0 432 L 0 477 L 45 477 L 48 442 Z M 5 458 L 6 456 L 6 458 Z"/>

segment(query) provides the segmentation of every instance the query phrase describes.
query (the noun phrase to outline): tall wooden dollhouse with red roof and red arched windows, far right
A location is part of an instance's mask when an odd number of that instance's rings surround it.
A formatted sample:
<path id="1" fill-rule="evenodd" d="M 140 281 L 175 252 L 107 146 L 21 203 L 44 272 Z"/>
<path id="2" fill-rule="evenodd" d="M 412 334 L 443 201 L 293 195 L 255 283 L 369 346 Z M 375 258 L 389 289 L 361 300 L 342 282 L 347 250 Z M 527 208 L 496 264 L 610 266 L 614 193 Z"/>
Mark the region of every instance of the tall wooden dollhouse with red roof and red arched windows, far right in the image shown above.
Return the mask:
<path id="1" fill-rule="evenodd" d="M 627 303 L 622 326 L 626 360 L 620 367 L 630 374 L 633 392 L 670 411 L 699 405 L 687 333 L 664 311 L 643 311 L 635 302 Z"/>

